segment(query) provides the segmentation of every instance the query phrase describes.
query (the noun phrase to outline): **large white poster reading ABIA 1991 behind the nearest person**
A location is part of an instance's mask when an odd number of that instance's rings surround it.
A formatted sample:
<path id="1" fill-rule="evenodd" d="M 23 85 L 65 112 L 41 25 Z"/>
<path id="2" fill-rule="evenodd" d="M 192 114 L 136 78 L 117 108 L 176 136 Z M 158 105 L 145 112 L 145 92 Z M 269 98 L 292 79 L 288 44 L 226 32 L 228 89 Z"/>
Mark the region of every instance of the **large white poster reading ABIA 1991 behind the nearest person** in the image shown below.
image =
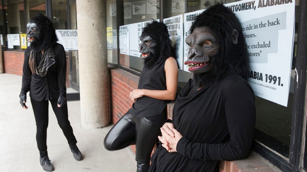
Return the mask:
<path id="1" fill-rule="evenodd" d="M 243 0 L 225 4 L 239 18 L 255 95 L 287 106 L 294 41 L 295 2 Z"/>

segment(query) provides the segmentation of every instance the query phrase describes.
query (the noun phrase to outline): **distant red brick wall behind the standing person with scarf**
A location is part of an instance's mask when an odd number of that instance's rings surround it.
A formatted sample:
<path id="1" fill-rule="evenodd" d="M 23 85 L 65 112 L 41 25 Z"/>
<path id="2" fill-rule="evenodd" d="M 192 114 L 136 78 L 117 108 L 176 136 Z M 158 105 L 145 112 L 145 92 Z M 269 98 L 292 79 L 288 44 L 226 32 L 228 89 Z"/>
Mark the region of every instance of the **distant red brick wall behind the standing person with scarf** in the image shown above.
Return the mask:
<path id="1" fill-rule="evenodd" d="M 22 75 L 22 66 L 24 61 L 25 51 L 3 51 L 4 73 Z M 66 56 L 66 87 L 70 87 L 69 82 L 69 56 Z"/>

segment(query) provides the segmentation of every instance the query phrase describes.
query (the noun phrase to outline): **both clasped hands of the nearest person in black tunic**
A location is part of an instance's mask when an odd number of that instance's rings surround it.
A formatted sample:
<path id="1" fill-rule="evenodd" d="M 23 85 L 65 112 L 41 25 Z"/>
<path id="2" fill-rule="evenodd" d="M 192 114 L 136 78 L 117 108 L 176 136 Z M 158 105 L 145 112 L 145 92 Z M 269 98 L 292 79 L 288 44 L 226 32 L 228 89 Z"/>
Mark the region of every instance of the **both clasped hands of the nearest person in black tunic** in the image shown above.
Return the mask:
<path id="1" fill-rule="evenodd" d="M 166 122 L 161 128 L 162 136 L 158 136 L 162 146 L 169 152 L 177 152 L 177 143 L 181 139 L 182 135 L 176 129 L 172 123 Z"/>

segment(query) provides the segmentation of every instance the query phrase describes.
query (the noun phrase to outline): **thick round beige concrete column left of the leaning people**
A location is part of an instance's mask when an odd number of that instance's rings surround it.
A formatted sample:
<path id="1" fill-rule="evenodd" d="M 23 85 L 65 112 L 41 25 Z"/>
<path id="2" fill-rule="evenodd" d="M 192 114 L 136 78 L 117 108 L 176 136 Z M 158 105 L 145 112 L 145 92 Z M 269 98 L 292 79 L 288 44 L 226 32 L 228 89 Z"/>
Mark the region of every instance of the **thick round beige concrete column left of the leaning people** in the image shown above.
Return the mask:
<path id="1" fill-rule="evenodd" d="M 81 126 L 109 125 L 106 2 L 76 0 Z"/>

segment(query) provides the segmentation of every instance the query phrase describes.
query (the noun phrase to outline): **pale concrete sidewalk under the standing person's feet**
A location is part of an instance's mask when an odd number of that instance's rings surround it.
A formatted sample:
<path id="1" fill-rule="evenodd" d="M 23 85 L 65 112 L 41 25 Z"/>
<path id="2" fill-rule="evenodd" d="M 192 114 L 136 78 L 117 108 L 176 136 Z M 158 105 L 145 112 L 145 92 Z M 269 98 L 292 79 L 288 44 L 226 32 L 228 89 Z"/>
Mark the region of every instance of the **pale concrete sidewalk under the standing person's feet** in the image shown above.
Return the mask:
<path id="1" fill-rule="evenodd" d="M 36 144 L 36 125 L 29 93 L 24 110 L 19 103 L 21 76 L 0 74 L 0 171 L 40 172 Z M 102 129 L 83 129 L 80 122 L 80 101 L 68 102 L 69 121 L 77 146 L 83 154 L 76 161 L 70 152 L 62 130 L 49 106 L 47 130 L 48 154 L 56 172 L 135 172 L 135 155 L 130 148 L 107 151 L 103 139 L 112 126 Z"/>

